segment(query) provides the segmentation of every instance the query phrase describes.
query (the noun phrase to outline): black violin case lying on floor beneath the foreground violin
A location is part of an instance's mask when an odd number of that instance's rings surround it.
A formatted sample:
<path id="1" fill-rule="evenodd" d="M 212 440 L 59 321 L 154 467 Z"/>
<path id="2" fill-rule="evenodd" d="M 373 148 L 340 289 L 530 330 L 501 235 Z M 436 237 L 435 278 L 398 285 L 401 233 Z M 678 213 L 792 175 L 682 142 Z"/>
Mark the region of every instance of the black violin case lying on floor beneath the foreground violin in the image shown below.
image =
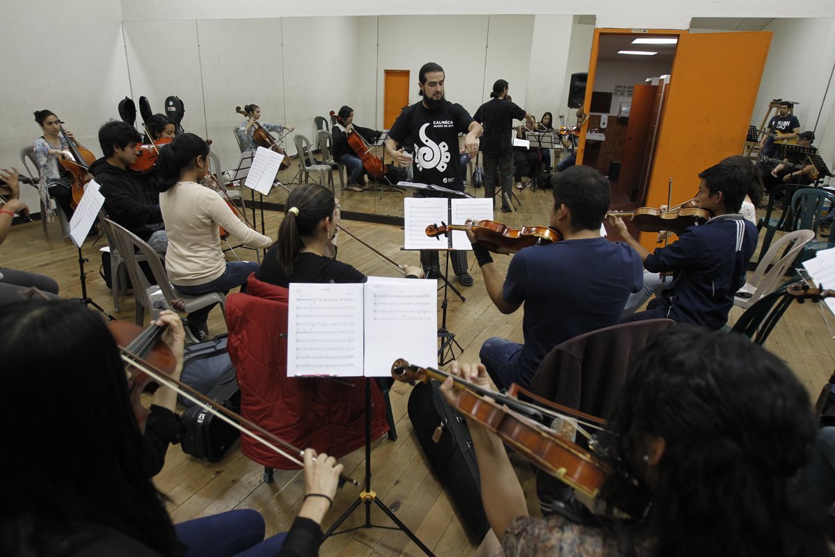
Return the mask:
<path id="1" fill-rule="evenodd" d="M 480 543 L 490 525 L 466 420 L 449 406 L 437 381 L 412 388 L 408 414 L 423 456 L 452 500 L 464 531 L 473 543 Z"/>

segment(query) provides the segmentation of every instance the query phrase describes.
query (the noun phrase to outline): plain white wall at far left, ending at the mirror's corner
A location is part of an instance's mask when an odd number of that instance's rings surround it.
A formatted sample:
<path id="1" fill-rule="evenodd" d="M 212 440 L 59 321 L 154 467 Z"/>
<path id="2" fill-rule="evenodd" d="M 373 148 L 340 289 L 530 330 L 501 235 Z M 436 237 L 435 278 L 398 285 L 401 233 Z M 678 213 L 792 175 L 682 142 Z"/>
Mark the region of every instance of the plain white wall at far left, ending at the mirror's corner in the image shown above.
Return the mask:
<path id="1" fill-rule="evenodd" d="M 6 2 L 0 8 L 0 166 L 23 171 L 20 149 L 42 134 L 32 114 L 38 109 L 58 114 L 100 155 L 99 125 L 118 117 L 119 100 L 130 94 L 119 3 L 49 4 L 47 9 L 43 3 Z M 69 34 L 69 29 L 81 32 Z M 36 212 L 37 192 L 29 186 L 22 190 Z"/>

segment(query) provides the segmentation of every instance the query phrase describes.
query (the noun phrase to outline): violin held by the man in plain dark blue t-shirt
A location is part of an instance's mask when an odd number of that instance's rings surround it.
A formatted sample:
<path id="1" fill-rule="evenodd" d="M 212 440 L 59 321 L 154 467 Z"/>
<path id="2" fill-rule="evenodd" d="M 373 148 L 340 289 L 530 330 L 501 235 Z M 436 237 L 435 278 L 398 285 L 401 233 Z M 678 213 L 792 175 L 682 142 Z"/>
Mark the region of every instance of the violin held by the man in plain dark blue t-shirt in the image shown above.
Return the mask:
<path id="1" fill-rule="evenodd" d="M 557 230 L 548 226 L 509 228 L 493 220 L 479 220 L 472 225 L 428 225 L 426 235 L 438 238 L 453 230 L 473 230 L 476 241 L 493 253 L 516 253 L 529 246 L 545 246 L 563 239 Z"/>

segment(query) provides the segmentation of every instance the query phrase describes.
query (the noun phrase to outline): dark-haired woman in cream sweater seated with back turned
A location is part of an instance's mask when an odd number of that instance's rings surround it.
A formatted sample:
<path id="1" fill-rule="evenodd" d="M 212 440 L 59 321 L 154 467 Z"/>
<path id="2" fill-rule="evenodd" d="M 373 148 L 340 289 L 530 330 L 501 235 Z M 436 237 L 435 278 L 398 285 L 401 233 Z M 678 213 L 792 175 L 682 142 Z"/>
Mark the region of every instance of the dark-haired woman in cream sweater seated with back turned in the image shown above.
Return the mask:
<path id="1" fill-rule="evenodd" d="M 162 192 L 159 209 L 169 240 L 165 269 L 171 283 L 195 296 L 245 286 L 258 263 L 225 261 L 220 226 L 247 246 L 269 247 L 272 241 L 241 223 L 217 192 L 198 183 L 209 172 L 209 144 L 195 134 L 178 135 L 159 149 L 156 169 Z M 198 337 L 208 334 L 210 311 L 211 306 L 189 315 L 191 332 Z"/>

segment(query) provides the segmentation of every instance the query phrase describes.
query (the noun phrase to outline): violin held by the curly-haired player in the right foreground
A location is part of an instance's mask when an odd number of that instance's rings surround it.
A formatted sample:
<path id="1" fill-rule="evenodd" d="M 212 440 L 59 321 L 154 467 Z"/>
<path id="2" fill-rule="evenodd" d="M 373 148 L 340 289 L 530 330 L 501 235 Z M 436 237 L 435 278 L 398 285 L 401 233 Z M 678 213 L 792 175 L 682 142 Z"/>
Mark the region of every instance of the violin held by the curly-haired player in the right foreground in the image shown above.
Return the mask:
<path id="1" fill-rule="evenodd" d="M 401 382 L 429 382 L 431 379 L 443 382 L 453 376 L 437 369 L 412 366 L 406 360 L 398 359 L 392 364 L 392 377 Z M 462 391 L 458 402 L 460 413 L 481 423 L 536 466 L 580 493 L 596 498 L 613 474 L 612 468 L 594 453 L 523 415 L 522 409 L 531 405 L 483 389 L 459 377 L 453 377 L 453 387 Z M 496 400 L 508 406 L 502 406 Z"/>

